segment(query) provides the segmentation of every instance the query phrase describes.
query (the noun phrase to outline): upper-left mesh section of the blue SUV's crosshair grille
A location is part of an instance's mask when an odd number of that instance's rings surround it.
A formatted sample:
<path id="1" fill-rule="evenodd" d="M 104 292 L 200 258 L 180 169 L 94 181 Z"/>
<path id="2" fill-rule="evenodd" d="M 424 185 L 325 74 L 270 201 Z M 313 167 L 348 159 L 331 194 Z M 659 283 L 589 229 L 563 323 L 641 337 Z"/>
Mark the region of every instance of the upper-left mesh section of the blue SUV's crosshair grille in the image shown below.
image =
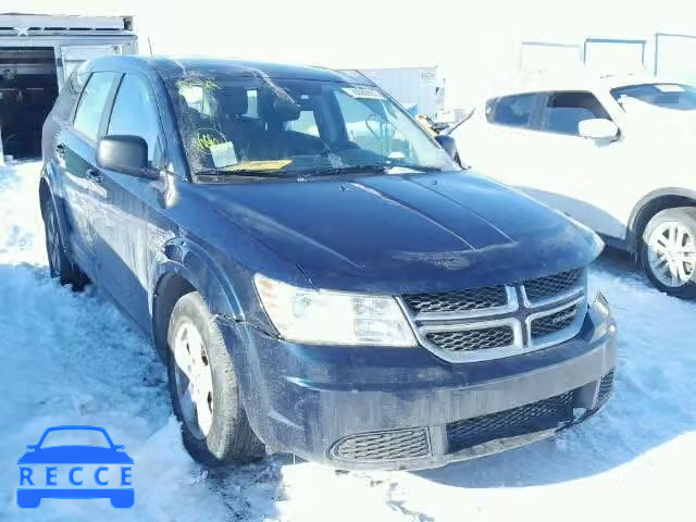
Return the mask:
<path id="1" fill-rule="evenodd" d="M 442 294 L 407 294 L 406 306 L 415 313 L 443 313 L 505 307 L 508 296 L 505 286 Z"/>

